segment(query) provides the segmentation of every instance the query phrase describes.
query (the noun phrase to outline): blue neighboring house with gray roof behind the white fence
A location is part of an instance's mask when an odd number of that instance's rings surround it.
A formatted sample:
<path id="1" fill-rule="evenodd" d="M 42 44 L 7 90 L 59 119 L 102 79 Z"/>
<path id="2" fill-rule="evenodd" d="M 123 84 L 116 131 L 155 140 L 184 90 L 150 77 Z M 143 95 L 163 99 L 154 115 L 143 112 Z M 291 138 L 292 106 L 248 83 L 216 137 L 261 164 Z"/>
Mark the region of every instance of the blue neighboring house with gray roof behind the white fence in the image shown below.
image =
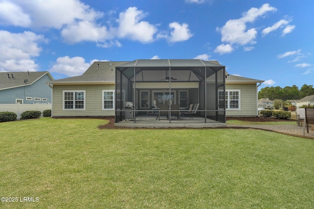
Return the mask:
<path id="1" fill-rule="evenodd" d="M 48 71 L 0 72 L 0 104 L 52 103 Z"/>

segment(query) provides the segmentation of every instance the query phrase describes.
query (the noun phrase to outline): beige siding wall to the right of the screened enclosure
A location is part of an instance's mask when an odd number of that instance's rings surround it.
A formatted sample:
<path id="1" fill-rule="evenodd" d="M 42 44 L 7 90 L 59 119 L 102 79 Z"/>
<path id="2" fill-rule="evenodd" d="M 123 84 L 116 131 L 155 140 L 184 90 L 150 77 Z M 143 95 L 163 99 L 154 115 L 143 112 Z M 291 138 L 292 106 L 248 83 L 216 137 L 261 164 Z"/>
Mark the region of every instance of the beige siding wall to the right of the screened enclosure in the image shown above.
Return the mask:
<path id="1" fill-rule="evenodd" d="M 226 90 L 240 90 L 240 110 L 227 110 L 226 116 L 257 116 L 256 84 L 226 84 Z"/>

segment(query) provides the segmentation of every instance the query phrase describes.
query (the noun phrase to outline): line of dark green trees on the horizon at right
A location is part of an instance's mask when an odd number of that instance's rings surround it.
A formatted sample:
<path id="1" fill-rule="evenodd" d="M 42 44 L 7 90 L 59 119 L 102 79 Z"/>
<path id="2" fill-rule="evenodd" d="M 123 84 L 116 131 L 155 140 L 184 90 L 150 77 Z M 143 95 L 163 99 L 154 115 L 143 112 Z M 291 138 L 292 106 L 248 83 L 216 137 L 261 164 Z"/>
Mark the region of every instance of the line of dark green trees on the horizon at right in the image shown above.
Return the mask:
<path id="1" fill-rule="evenodd" d="M 313 85 L 304 84 L 301 89 L 296 85 L 291 87 L 286 86 L 285 88 L 277 87 L 265 87 L 262 88 L 259 92 L 259 99 L 268 98 L 270 100 L 282 99 L 286 100 L 297 100 L 302 99 L 305 96 L 314 95 Z"/>

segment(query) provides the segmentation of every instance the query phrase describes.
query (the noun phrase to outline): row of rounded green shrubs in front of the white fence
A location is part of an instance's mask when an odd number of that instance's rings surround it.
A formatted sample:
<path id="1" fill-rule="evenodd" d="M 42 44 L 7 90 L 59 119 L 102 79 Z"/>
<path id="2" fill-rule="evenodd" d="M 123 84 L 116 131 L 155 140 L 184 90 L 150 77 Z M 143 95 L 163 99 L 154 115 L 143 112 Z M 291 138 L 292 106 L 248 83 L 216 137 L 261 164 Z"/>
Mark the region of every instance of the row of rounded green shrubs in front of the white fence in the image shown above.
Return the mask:
<path id="1" fill-rule="evenodd" d="M 29 110 L 25 111 L 21 114 L 21 120 L 39 118 L 41 116 L 41 112 L 37 110 Z M 44 117 L 51 117 L 51 110 L 43 111 Z M 14 121 L 17 119 L 17 115 L 14 112 L 0 112 L 0 122 L 8 122 Z"/>

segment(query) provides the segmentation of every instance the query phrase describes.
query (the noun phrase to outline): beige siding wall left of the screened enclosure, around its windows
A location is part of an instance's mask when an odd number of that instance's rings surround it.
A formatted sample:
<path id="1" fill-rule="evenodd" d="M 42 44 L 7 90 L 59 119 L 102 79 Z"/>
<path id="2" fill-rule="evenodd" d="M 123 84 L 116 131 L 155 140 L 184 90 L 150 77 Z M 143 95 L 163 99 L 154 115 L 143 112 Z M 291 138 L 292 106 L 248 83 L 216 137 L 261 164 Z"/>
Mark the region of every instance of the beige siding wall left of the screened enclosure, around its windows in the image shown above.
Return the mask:
<path id="1" fill-rule="evenodd" d="M 85 90 L 85 110 L 62 110 L 64 90 Z M 114 85 L 54 85 L 52 116 L 114 116 L 114 110 L 102 110 L 103 90 L 114 90 Z"/>

